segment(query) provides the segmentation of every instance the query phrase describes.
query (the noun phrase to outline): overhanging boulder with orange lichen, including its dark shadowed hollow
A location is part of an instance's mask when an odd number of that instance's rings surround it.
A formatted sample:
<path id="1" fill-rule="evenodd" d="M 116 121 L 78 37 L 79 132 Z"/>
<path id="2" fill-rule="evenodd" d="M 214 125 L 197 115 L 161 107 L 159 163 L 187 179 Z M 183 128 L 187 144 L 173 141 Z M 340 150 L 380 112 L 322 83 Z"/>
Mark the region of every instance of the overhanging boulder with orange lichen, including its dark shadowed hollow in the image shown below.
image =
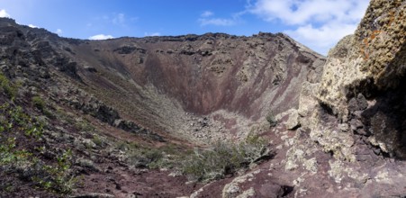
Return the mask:
<path id="1" fill-rule="evenodd" d="M 355 34 L 329 51 L 317 92 L 320 103 L 352 130 L 374 137 L 375 146 L 401 158 L 406 151 L 405 8 L 404 1 L 372 1 Z"/>

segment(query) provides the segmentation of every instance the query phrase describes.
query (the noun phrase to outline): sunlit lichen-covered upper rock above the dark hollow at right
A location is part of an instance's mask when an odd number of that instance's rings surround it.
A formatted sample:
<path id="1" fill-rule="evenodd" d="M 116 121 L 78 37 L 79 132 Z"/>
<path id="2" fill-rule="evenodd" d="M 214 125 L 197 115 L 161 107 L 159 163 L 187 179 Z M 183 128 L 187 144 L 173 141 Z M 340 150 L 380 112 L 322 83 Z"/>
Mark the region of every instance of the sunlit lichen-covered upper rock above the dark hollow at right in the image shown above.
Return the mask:
<path id="1" fill-rule="evenodd" d="M 373 0 L 356 33 L 329 51 L 317 96 L 343 120 L 348 97 L 399 85 L 406 71 L 405 16 L 405 1 Z"/>

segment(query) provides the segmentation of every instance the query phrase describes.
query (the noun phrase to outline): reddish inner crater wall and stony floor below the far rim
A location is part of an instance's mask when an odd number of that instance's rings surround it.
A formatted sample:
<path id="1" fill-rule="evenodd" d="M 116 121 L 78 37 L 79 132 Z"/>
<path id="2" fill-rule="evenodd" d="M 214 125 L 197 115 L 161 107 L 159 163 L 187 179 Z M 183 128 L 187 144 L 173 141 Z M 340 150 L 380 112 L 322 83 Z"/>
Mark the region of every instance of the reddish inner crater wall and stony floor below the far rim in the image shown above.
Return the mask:
<path id="1" fill-rule="evenodd" d="M 245 137 L 266 113 L 297 107 L 302 82 L 318 82 L 324 62 L 269 33 L 122 38 L 68 48 L 88 92 L 143 126 L 200 142 L 232 137 L 230 131 Z"/>

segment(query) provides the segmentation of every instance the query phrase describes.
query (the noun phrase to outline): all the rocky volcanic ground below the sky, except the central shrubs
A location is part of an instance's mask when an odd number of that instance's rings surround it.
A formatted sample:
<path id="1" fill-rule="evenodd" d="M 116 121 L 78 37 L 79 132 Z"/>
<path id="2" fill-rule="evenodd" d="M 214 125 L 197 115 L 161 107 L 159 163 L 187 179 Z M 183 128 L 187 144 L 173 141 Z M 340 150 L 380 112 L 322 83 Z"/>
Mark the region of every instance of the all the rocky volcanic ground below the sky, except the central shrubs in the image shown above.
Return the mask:
<path id="1" fill-rule="evenodd" d="M 327 59 L 284 34 L 73 40 L 0 19 L 0 196 L 404 197 L 405 11 L 372 0 Z M 179 172 L 252 137 L 238 172 Z"/>

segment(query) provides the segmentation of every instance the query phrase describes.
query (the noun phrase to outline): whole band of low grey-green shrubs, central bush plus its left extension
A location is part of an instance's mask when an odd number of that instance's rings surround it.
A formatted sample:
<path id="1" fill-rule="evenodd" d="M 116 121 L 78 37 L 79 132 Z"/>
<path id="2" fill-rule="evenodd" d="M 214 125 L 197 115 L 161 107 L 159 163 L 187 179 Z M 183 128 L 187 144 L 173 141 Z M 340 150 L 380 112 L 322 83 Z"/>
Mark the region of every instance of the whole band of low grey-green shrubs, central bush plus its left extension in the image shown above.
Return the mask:
<path id="1" fill-rule="evenodd" d="M 248 136 L 239 144 L 216 142 L 212 148 L 189 150 L 168 144 L 161 148 L 140 146 L 136 143 L 118 144 L 127 153 L 127 162 L 139 168 L 179 168 L 194 181 L 210 181 L 234 175 L 239 170 L 271 157 L 266 139 Z M 179 152 L 182 149 L 183 152 Z M 185 151 L 186 150 L 186 151 Z"/>

